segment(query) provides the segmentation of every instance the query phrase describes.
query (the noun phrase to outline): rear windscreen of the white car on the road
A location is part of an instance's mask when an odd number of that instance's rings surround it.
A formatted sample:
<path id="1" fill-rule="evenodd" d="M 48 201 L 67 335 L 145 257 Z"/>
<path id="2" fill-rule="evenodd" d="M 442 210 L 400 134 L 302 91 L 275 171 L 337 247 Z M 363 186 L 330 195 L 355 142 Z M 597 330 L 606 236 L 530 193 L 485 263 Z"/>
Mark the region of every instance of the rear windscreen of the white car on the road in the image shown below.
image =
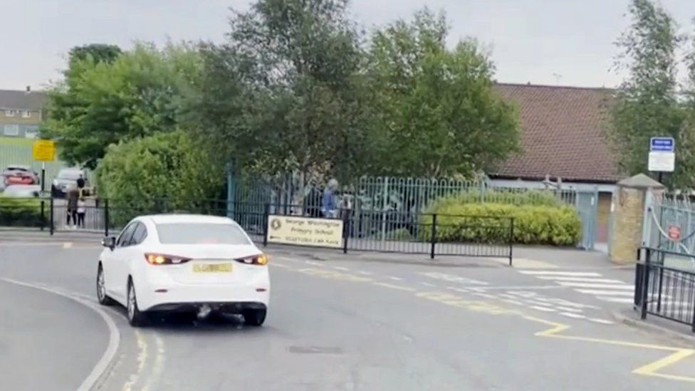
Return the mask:
<path id="1" fill-rule="evenodd" d="M 251 244 L 234 224 L 157 224 L 157 234 L 162 244 Z"/>

